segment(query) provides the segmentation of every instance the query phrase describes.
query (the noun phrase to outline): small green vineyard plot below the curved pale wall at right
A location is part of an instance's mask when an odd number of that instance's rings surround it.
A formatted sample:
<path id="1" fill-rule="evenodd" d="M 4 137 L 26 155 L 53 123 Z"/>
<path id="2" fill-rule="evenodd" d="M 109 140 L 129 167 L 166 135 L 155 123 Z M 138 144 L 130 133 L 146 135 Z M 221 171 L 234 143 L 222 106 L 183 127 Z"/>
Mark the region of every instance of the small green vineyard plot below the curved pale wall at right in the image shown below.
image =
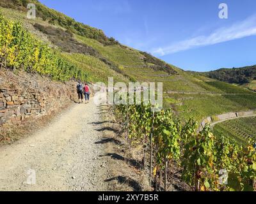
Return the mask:
<path id="1" fill-rule="evenodd" d="M 256 117 L 244 117 L 216 124 L 214 126 L 214 133 L 216 135 L 233 137 L 242 143 L 246 143 L 250 139 L 256 139 L 255 126 Z"/>

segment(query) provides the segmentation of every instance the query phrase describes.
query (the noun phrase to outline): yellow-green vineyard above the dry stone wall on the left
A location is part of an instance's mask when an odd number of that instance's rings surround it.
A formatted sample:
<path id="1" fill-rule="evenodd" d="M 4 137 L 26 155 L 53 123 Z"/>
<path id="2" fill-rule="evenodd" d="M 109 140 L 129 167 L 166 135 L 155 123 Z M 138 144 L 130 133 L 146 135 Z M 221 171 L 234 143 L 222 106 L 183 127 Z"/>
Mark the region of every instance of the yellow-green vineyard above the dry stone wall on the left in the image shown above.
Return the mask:
<path id="1" fill-rule="evenodd" d="M 86 73 L 65 61 L 57 50 L 35 40 L 22 28 L 0 16 L 0 64 L 13 71 L 37 72 L 53 80 L 86 80 Z"/>

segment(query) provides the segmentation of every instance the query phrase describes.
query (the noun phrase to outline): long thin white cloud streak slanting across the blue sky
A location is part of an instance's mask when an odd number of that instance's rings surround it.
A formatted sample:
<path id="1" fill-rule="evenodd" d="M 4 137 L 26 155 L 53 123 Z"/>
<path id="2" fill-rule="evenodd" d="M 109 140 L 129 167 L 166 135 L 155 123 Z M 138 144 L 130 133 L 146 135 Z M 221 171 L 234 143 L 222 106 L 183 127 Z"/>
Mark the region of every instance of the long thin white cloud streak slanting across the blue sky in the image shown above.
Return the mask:
<path id="1" fill-rule="evenodd" d="M 173 43 L 167 47 L 159 47 L 152 50 L 152 54 L 163 56 L 176 52 L 190 50 L 196 47 L 214 45 L 225 41 L 236 40 L 248 36 L 256 35 L 256 15 L 246 18 L 246 20 L 236 22 L 230 27 L 221 27 L 212 32 L 209 36 L 198 36 L 188 40 Z"/>

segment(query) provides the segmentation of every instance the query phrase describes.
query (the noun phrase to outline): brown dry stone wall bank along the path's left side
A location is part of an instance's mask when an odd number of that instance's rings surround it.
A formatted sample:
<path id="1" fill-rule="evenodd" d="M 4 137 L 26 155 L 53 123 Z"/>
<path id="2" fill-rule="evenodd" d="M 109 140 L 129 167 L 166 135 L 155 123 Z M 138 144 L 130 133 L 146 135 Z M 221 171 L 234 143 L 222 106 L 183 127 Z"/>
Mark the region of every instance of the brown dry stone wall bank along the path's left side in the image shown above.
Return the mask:
<path id="1" fill-rule="evenodd" d="M 64 84 L 28 73 L 0 72 L 0 126 L 60 112 L 76 99 L 76 82 Z"/>

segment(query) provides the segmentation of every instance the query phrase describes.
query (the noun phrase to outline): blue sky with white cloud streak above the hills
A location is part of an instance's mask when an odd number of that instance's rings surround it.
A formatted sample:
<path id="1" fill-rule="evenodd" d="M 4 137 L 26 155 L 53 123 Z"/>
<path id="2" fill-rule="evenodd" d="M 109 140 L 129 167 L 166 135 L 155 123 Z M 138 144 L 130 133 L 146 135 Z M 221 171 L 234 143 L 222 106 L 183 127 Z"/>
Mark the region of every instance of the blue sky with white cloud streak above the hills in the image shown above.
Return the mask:
<path id="1" fill-rule="evenodd" d="M 40 2 L 184 70 L 256 64 L 255 0 Z M 219 17 L 221 3 L 227 5 L 227 18 Z"/>

